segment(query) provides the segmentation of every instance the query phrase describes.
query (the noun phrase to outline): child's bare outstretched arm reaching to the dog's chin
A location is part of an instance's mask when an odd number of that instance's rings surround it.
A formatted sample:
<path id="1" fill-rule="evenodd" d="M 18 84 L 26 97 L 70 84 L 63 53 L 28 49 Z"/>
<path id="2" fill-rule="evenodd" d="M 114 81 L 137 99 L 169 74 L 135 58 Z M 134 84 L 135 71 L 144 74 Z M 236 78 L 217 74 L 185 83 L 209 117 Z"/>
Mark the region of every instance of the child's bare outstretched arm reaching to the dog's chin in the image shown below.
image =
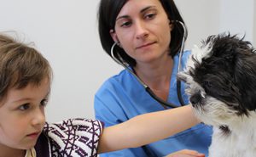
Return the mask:
<path id="1" fill-rule="evenodd" d="M 153 143 L 182 132 L 199 122 L 190 105 L 137 115 L 119 125 L 106 127 L 100 137 L 98 153 Z"/>

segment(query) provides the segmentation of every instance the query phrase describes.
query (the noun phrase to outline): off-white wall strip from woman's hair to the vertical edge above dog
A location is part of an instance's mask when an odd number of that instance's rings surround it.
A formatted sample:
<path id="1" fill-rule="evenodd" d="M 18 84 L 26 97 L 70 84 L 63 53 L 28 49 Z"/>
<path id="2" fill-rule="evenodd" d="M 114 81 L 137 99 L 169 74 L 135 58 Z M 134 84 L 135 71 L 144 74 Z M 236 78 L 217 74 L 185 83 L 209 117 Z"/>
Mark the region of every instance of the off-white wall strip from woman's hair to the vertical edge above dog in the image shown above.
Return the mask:
<path id="1" fill-rule="evenodd" d="M 219 0 L 174 0 L 183 16 L 189 36 L 186 49 L 200 45 L 207 36 L 218 34 L 219 27 Z"/>

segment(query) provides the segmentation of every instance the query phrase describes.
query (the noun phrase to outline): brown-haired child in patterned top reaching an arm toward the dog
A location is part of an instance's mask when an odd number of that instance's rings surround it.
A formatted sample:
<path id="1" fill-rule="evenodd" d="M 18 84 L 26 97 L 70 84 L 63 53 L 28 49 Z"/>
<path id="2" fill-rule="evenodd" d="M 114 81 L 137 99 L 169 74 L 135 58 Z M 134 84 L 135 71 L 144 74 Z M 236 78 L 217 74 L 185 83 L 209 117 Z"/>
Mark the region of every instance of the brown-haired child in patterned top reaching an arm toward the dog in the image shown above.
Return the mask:
<path id="1" fill-rule="evenodd" d="M 36 49 L 0 34 L 0 157 L 96 156 L 152 143 L 199 122 L 187 106 L 104 130 L 101 121 L 87 119 L 48 124 L 44 107 L 51 79 L 49 62 Z M 190 150 L 176 155 L 204 156 Z"/>

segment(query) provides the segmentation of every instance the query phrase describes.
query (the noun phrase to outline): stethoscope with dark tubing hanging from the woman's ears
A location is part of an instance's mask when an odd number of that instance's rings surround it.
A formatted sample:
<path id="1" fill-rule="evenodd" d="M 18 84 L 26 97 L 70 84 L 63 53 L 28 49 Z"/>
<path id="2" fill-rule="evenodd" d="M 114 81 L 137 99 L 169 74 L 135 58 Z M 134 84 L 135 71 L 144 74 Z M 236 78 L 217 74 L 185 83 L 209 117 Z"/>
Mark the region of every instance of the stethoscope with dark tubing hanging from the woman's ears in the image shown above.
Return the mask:
<path id="1" fill-rule="evenodd" d="M 178 58 L 178 64 L 177 64 L 177 73 L 180 72 L 181 70 L 181 59 L 182 59 L 182 56 L 183 56 L 183 50 L 184 50 L 184 42 L 185 42 L 185 37 L 187 36 L 187 29 L 186 29 L 186 26 L 183 24 L 183 22 L 181 21 L 176 21 L 177 23 L 179 23 L 180 25 L 183 26 L 183 40 L 182 40 L 182 45 L 180 47 L 180 52 L 179 52 L 179 58 Z M 171 103 L 168 103 L 164 100 L 162 100 L 161 98 L 159 98 L 158 96 L 156 96 L 154 94 L 154 92 L 150 89 L 150 87 L 148 87 L 148 85 L 146 85 L 136 74 L 133 70 L 131 70 L 131 68 L 129 68 L 129 64 L 126 63 L 124 61 L 124 59 L 121 58 L 121 56 L 119 55 L 119 53 L 117 53 L 118 55 L 118 58 L 117 59 L 114 55 L 113 55 L 113 48 L 118 44 L 119 42 L 114 42 L 113 43 L 113 46 L 111 47 L 111 57 L 113 58 L 113 60 L 122 65 L 125 70 L 128 70 L 132 76 L 135 76 L 135 78 L 137 79 L 137 81 L 139 81 L 143 87 L 145 88 L 145 90 L 147 91 L 147 93 L 152 97 L 154 98 L 157 102 L 159 102 L 160 104 L 162 105 L 165 105 L 167 107 L 171 107 L 171 108 L 177 108 L 179 106 L 175 105 L 175 104 L 171 104 Z M 181 93 L 181 81 L 177 80 L 177 98 L 178 98 L 178 101 L 179 103 L 183 106 L 185 105 L 184 104 L 184 101 L 183 101 L 183 98 L 182 98 L 182 93 Z"/>

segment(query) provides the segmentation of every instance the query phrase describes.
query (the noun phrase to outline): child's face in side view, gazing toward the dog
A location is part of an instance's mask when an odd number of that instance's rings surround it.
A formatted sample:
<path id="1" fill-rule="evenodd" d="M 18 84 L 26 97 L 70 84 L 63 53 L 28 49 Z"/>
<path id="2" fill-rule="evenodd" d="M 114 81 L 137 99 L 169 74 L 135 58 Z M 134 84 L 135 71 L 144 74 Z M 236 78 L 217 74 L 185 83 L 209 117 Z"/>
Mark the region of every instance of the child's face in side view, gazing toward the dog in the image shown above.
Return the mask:
<path id="1" fill-rule="evenodd" d="M 30 149 L 37 142 L 45 123 L 44 106 L 49 94 L 49 79 L 38 86 L 9 89 L 0 102 L 0 149 Z"/>

